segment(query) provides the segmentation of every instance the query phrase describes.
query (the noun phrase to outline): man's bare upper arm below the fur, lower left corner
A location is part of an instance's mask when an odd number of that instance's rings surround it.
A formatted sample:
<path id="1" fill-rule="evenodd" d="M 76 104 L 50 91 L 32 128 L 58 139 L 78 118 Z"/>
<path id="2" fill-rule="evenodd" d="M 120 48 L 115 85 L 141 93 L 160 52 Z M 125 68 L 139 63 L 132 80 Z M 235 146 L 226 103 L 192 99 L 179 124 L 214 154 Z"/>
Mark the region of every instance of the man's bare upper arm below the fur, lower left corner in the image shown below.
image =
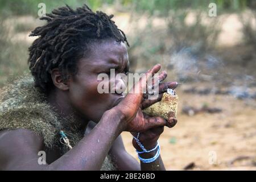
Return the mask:
<path id="1" fill-rule="evenodd" d="M 27 160 L 38 159 L 43 147 L 43 138 L 30 130 L 0 131 L 0 169 L 15 169 Z"/>

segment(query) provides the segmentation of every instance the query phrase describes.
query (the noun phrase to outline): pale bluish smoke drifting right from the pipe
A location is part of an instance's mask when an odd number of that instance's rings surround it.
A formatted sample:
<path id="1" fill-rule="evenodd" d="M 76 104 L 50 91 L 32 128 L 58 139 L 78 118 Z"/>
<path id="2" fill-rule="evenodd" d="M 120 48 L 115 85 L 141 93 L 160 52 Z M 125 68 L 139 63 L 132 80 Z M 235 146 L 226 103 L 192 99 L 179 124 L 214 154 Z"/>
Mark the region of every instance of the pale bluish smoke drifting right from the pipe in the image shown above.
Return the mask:
<path id="1" fill-rule="evenodd" d="M 208 87 L 190 88 L 188 93 L 229 94 L 247 101 L 256 99 L 255 77 L 230 69 L 217 56 L 200 53 L 195 47 L 184 47 L 172 53 L 169 67 L 177 76 L 177 81 L 207 82 Z M 210 85 L 210 86 L 209 86 Z"/>

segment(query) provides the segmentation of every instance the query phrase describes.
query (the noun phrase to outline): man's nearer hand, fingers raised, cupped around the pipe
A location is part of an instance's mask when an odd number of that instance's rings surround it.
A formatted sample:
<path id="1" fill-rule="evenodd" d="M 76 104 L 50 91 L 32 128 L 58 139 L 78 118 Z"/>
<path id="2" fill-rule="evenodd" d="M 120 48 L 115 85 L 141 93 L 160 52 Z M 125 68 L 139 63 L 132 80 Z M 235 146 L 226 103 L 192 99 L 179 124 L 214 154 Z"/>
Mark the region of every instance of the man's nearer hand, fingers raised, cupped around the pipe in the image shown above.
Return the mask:
<path id="1" fill-rule="evenodd" d="M 142 113 L 142 101 L 143 101 L 143 92 L 142 90 L 147 87 L 148 79 L 152 79 L 155 73 L 160 70 L 160 64 L 156 64 L 150 70 L 148 70 L 144 76 L 133 86 L 133 90 L 139 90 L 139 93 L 128 93 L 126 97 L 111 110 L 113 113 L 121 113 L 125 119 L 122 122 L 123 131 L 130 132 L 142 132 L 148 129 L 159 127 L 159 126 L 168 126 L 171 127 L 173 120 L 166 121 L 166 119 L 161 117 L 148 117 L 146 114 Z M 166 72 L 159 74 L 159 80 L 163 81 L 167 77 Z M 167 82 L 164 83 L 168 88 L 175 88 L 176 82 Z M 159 88 L 162 88 L 159 85 Z M 150 100 L 149 100 L 150 101 Z M 152 102 L 151 104 L 154 104 Z"/>

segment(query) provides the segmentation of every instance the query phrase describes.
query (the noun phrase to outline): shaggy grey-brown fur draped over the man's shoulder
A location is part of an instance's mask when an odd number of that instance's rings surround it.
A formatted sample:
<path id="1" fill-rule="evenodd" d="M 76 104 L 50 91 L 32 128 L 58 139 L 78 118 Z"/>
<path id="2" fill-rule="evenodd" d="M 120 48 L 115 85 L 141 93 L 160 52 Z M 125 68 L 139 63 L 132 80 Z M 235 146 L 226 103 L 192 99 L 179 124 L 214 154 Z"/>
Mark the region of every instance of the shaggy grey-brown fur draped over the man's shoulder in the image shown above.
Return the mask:
<path id="1" fill-rule="evenodd" d="M 35 88 L 32 76 L 22 76 L 11 81 L 2 90 L 0 100 L 0 130 L 8 130 L 8 135 L 15 139 L 19 138 L 16 135 L 31 137 L 26 143 L 34 142 L 32 139 L 38 138 L 34 137 L 36 133 L 42 135 L 47 147 L 55 144 L 59 118 L 46 102 L 46 96 Z"/>

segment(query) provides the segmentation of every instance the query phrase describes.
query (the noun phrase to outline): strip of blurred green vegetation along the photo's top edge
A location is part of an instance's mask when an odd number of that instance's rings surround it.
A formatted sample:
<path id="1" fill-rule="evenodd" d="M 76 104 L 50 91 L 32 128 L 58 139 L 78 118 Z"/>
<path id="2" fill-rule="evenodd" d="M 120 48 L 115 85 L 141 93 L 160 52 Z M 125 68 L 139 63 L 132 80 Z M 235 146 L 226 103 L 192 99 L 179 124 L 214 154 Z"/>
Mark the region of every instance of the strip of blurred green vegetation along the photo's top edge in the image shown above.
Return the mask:
<path id="1" fill-rule="evenodd" d="M 211 2 L 216 3 L 217 8 L 220 11 L 238 11 L 254 5 L 254 0 L 1 0 L 0 12 L 5 15 L 36 15 L 38 4 L 42 2 L 46 4 L 47 13 L 51 12 L 56 7 L 64 6 L 65 4 L 77 7 L 86 3 L 93 10 L 96 10 L 103 5 L 113 5 L 118 3 L 125 9 L 134 7 L 138 12 L 147 11 L 150 14 L 157 13 L 159 15 L 166 15 L 169 10 L 176 9 L 205 9 Z"/>

